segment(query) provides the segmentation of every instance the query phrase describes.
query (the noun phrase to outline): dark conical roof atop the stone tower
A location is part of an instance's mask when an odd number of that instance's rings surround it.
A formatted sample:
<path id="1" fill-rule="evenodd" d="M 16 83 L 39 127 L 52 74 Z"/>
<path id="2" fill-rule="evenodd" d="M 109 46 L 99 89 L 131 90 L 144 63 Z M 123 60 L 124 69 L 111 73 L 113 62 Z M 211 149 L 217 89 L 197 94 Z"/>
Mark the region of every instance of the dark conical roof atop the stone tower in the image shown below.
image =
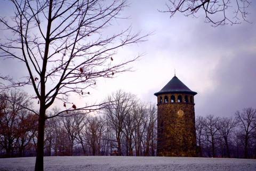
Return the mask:
<path id="1" fill-rule="evenodd" d="M 196 95 L 196 92 L 191 91 L 185 84 L 179 80 L 178 77 L 174 76 L 169 83 L 167 83 L 161 91 L 155 93 L 154 95 L 164 94 L 164 93 L 188 93 Z"/>

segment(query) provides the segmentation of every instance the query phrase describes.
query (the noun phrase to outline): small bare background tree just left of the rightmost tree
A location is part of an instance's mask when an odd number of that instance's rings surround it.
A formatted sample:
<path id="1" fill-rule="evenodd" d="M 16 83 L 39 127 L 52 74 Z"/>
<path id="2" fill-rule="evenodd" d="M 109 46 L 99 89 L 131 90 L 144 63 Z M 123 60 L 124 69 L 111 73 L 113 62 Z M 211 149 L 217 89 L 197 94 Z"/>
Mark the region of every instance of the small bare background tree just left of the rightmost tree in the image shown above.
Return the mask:
<path id="1" fill-rule="evenodd" d="M 230 149 L 229 149 L 230 135 L 234 131 L 235 127 L 236 127 L 236 121 L 232 118 L 220 118 L 217 125 L 217 129 L 225 143 L 227 156 L 229 158 L 230 158 Z"/>

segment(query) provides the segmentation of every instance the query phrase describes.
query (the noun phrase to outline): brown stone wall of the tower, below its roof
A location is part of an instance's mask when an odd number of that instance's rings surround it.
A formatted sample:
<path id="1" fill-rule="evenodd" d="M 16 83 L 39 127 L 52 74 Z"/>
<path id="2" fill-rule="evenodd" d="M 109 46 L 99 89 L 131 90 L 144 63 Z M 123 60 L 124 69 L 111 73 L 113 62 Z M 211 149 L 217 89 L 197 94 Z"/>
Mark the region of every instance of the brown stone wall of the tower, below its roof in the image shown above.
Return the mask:
<path id="1" fill-rule="evenodd" d="M 171 103 L 171 95 L 175 102 Z M 178 102 L 182 95 L 182 102 Z M 190 94 L 158 95 L 157 108 L 157 156 L 196 156 L 196 131 L 194 98 L 185 103 L 185 96 Z M 159 97 L 168 96 L 168 103 L 159 103 Z"/>

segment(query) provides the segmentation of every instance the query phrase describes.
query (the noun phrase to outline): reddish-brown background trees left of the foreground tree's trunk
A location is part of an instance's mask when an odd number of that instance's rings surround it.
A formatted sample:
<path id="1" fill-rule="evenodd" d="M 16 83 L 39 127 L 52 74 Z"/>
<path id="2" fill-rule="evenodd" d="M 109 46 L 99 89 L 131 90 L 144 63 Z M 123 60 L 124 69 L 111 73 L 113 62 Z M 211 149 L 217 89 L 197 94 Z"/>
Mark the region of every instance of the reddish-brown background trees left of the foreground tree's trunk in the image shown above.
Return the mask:
<path id="1" fill-rule="evenodd" d="M 26 93 L 0 94 L 0 156 L 22 157 L 35 154 L 37 116 L 25 108 L 31 105 Z"/>

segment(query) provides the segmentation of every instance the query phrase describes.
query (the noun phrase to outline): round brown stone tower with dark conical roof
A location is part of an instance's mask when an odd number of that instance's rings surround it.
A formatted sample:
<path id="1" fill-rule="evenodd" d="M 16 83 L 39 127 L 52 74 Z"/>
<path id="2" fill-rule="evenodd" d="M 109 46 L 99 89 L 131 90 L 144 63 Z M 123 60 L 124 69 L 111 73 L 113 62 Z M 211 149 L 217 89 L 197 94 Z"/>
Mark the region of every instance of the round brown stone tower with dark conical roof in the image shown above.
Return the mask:
<path id="1" fill-rule="evenodd" d="M 194 95 L 174 76 L 157 96 L 157 156 L 196 156 Z"/>

